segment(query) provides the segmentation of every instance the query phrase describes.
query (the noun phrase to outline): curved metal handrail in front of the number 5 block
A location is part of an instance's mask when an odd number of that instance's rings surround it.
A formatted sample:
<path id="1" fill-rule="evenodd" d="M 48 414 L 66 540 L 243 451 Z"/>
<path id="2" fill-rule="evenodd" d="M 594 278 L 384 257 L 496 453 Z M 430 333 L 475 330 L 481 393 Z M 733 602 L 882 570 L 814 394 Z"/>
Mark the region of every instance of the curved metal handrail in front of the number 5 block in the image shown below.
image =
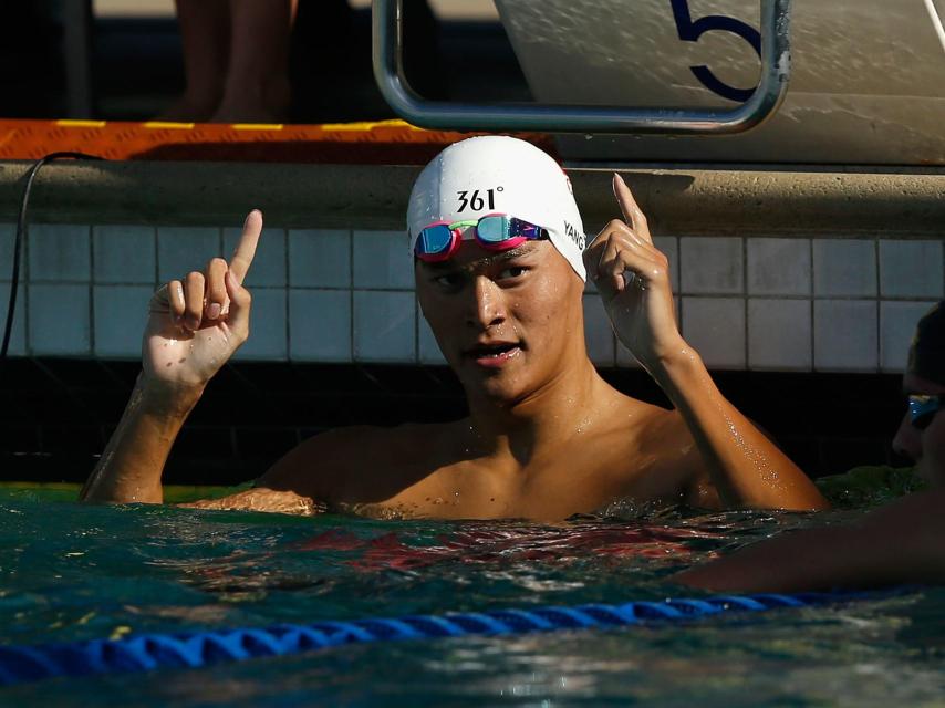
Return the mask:
<path id="1" fill-rule="evenodd" d="M 404 76 L 402 0 L 373 1 L 374 79 L 401 117 L 427 128 L 662 135 L 744 133 L 777 112 L 787 95 L 791 74 L 791 0 L 760 2 L 761 82 L 748 101 L 731 110 L 427 101 L 411 88 Z"/>

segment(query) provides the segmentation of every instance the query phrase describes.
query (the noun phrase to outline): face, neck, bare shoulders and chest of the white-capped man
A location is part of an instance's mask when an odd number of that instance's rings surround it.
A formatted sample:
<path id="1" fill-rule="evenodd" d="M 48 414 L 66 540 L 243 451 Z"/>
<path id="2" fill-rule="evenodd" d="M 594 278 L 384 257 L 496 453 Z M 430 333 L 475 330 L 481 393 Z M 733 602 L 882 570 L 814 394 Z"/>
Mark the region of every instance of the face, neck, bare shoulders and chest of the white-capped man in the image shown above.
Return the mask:
<path id="1" fill-rule="evenodd" d="M 467 241 L 415 272 L 471 416 L 318 436 L 261 486 L 381 516 L 562 519 L 623 498 L 718 503 L 679 416 L 620 394 L 591 365 L 575 336 L 583 282 L 549 242 L 496 254 Z"/>

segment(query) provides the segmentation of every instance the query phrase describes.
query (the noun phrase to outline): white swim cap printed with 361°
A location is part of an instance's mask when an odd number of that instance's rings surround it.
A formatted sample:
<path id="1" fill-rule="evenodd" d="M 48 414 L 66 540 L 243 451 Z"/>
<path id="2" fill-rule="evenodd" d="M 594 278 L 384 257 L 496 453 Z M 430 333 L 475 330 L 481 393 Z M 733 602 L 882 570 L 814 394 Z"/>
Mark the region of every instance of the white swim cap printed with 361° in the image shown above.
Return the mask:
<path id="1" fill-rule="evenodd" d="M 420 229 L 437 221 L 505 214 L 540 226 L 574 272 L 586 280 L 584 226 L 571 180 L 550 155 L 515 137 L 486 135 L 455 143 L 417 177 L 407 208 L 411 253 Z"/>

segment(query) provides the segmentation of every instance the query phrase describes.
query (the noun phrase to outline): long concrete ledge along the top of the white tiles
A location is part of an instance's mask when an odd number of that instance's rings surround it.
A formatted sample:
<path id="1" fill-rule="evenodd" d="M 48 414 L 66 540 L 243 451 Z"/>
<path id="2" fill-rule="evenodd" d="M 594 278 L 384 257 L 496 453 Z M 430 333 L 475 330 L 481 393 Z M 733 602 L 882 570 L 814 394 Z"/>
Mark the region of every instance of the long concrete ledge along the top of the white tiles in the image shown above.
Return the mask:
<path id="1" fill-rule="evenodd" d="M 30 163 L 0 163 L 0 220 Z M 945 174 L 621 170 L 655 233 L 941 238 Z M 31 221 L 401 229 L 415 166 L 63 162 L 40 173 Z M 589 232 L 619 216 L 612 171 L 569 170 Z"/>

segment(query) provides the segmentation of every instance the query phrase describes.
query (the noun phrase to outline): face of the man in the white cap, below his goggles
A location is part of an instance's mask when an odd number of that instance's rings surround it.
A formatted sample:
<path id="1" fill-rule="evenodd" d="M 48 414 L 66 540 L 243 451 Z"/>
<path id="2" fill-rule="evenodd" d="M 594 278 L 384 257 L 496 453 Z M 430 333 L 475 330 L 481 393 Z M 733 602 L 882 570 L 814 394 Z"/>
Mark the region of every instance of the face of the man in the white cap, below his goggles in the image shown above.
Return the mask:
<path id="1" fill-rule="evenodd" d="M 584 283 L 548 241 L 489 251 L 463 241 L 417 260 L 417 298 L 467 396 L 515 404 L 586 358 Z"/>

